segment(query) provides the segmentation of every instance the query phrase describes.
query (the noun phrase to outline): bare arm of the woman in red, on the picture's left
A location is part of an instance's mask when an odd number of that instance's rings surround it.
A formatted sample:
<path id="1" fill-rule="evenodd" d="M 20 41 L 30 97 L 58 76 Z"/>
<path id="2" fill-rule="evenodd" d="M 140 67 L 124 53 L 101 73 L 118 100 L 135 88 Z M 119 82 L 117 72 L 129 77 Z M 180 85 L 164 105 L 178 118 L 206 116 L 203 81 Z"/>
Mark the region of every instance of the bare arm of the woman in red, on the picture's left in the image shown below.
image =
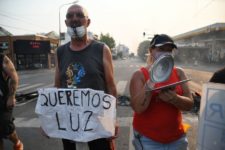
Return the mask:
<path id="1" fill-rule="evenodd" d="M 151 92 L 146 92 L 146 83 L 141 71 L 136 71 L 130 81 L 131 107 L 136 113 L 144 112 L 151 101 Z"/>

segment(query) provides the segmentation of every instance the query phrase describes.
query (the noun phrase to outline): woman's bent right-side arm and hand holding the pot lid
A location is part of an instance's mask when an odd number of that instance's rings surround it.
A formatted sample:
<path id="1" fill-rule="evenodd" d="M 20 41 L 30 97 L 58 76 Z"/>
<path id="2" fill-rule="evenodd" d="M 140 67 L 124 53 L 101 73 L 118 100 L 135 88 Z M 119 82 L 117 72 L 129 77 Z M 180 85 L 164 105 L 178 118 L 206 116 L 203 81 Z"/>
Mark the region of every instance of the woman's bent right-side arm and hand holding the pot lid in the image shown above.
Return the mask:
<path id="1" fill-rule="evenodd" d="M 187 79 L 182 69 L 177 68 L 177 73 L 180 80 Z M 177 107 L 182 111 L 188 111 L 192 108 L 194 104 L 188 84 L 189 84 L 188 82 L 181 84 L 181 87 L 184 92 L 183 95 L 176 94 L 175 90 L 162 90 L 159 93 L 159 98 L 165 102 L 173 104 L 175 107 Z"/>

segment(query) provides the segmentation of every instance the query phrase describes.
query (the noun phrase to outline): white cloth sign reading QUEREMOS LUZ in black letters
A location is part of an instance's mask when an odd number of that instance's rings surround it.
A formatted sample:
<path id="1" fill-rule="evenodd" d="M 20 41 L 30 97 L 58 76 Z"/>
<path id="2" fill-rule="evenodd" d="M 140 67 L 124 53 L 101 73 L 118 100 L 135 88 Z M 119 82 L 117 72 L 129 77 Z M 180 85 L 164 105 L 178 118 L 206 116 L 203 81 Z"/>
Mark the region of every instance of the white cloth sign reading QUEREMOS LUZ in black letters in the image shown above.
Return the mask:
<path id="1" fill-rule="evenodd" d="M 50 137 L 88 142 L 115 133 L 116 98 L 92 89 L 39 89 L 35 112 Z"/>

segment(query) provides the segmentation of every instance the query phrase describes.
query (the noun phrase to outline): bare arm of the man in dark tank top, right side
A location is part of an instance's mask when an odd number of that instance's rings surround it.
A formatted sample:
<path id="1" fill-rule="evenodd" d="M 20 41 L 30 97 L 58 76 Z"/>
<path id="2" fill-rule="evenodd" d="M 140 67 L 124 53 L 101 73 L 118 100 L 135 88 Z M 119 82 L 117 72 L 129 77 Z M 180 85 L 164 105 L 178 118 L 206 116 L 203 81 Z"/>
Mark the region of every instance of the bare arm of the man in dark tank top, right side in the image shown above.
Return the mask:
<path id="1" fill-rule="evenodd" d="M 103 48 L 103 66 L 105 73 L 106 88 L 108 94 L 117 97 L 116 85 L 113 77 L 113 64 L 112 55 L 108 46 L 104 45 Z"/>

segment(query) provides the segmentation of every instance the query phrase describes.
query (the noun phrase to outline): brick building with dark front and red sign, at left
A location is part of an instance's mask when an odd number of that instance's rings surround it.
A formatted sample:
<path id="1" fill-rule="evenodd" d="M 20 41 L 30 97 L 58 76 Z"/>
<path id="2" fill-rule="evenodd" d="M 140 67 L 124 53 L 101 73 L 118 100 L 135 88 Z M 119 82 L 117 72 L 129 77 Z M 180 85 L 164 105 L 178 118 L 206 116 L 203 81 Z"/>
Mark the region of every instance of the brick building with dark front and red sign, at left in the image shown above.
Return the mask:
<path id="1" fill-rule="evenodd" d="M 57 38 L 45 35 L 0 36 L 0 50 L 12 60 L 17 70 L 54 67 L 58 45 Z"/>

